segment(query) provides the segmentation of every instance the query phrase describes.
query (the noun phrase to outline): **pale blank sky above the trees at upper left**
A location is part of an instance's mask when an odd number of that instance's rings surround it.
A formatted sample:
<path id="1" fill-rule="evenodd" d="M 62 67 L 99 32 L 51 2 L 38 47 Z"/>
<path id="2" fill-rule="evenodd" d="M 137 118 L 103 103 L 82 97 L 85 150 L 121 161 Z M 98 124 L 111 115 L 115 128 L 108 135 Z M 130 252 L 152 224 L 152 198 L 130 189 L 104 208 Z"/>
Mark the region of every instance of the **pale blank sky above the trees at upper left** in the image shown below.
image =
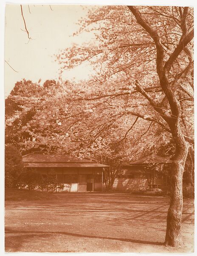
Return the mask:
<path id="1" fill-rule="evenodd" d="M 51 8 L 53 11 L 51 11 Z M 82 43 L 90 39 L 91 35 L 82 33 L 77 37 L 72 34 L 79 26 L 76 25 L 80 17 L 85 17 L 87 8 L 68 5 L 23 5 L 23 15 L 29 35 L 28 40 L 24 28 L 20 5 L 6 5 L 5 22 L 5 94 L 8 96 L 14 84 L 25 78 L 41 84 L 47 79 L 58 79 L 58 62 L 53 54 L 59 50 Z M 86 64 L 87 65 L 87 64 Z M 87 79 L 91 69 L 84 65 L 75 70 L 66 70 L 64 78 L 69 80 Z"/>

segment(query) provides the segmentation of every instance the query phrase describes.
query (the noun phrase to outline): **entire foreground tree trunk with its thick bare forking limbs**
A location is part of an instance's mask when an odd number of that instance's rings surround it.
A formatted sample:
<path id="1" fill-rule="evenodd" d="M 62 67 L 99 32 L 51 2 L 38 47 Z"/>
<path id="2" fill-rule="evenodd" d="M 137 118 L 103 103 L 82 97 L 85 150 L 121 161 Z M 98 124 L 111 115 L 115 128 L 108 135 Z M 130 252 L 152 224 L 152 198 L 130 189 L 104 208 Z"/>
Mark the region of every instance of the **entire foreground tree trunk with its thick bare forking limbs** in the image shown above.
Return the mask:
<path id="1" fill-rule="evenodd" d="M 181 215 L 183 209 L 183 171 L 186 163 L 186 157 L 188 154 L 188 144 L 186 143 L 183 131 L 180 127 L 181 118 L 181 106 L 177 100 L 177 95 L 172 90 L 172 84 L 169 80 L 170 70 L 177 59 L 178 55 L 185 49 L 186 45 L 193 39 L 194 30 L 189 32 L 187 28 L 186 16 L 188 13 L 188 7 L 184 7 L 184 17 L 180 20 L 180 26 L 183 31 L 180 41 L 177 47 L 170 54 L 168 60 L 165 60 L 163 45 L 160 41 L 160 35 L 152 26 L 147 23 L 142 17 L 138 8 L 135 6 L 128 6 L 129 10 L 135 16 L 136 21 L 141 25 L 146 32 L 152 37 L 157 50 L 156 68 L 158 77 L 160 79 L 160 86 L 168 100 L 171 114 L 162 105 L 164 102 L 158 105 L 136 82 L 136 89 L 149 101 L 150 105 L 157 111 L 160 116 L 168 123 L 172 137 L 176 144 L 176 154 L 172 164 L 172 180 L 171 180 L 171 202 L 167 216 L 167 228 L 166 228 L 166 240 L 165 244 L 171 246 L 178 246 L 181 244 Z M 175 75 L 177 77 L 177 75 Z"/>

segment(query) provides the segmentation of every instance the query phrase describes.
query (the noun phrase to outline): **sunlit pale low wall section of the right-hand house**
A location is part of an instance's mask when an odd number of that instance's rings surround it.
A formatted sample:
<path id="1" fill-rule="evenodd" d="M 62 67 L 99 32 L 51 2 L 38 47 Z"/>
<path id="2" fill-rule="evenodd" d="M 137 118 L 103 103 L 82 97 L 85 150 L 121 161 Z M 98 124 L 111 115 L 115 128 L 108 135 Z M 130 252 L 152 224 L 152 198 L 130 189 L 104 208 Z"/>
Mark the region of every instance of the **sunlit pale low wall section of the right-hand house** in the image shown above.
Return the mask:
<path id="1" fill-rule="evenodd" d="M 117 178 L 113 183 L 113 189 L 117 191 L 141 191 L 147 188 L 147 179 Z"/>

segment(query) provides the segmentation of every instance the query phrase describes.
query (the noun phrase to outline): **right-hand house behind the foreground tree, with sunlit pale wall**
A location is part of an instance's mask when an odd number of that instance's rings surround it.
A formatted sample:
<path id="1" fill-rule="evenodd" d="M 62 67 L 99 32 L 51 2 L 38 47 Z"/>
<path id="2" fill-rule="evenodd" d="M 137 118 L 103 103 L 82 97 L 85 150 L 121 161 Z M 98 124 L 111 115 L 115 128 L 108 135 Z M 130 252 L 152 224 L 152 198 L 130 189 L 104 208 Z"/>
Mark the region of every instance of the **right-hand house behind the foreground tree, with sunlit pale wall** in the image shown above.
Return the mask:
<path id="1" fill-rule="evenodd" d="M 169 157 L 149 155 L 129 163 L 122 162 L 121 171 L 115 178 L 113 189 L 117 191 L 167 190 L 168 172 L 172 160 Z"/>

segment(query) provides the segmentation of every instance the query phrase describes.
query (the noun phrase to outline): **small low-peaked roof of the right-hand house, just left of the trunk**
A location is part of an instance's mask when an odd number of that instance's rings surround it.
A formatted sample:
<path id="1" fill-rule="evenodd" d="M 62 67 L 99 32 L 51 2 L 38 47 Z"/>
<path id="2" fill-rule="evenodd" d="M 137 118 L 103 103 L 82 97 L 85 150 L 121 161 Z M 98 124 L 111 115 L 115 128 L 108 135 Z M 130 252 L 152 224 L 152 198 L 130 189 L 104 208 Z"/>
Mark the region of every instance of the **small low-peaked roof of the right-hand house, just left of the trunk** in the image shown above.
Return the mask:
<path id="1" fill-rule="evenodd" d="M 149 164 L 149 163 L 172 163 L 172 160 L 169 157 L 160 157 L 158 155 L 149 155 L 147 157 L 143 157 L 130 163 L 130 165 L 140 165 L 140 164 Z"/>

